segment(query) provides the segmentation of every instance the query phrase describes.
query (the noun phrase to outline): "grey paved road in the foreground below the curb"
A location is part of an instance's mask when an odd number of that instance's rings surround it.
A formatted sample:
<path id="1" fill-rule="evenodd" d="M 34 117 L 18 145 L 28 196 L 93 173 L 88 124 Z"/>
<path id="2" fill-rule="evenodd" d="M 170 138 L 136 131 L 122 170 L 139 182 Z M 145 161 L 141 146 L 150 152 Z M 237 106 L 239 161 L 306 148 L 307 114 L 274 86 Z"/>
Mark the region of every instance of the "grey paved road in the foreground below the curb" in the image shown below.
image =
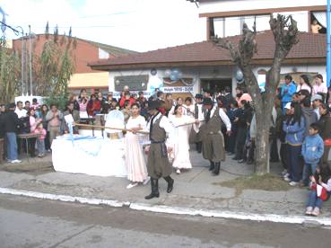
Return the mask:
<path id="1" fill-rule="evenodd" d="M 4 247 L 331 247 L 330 230 L 0 195 Z"/>

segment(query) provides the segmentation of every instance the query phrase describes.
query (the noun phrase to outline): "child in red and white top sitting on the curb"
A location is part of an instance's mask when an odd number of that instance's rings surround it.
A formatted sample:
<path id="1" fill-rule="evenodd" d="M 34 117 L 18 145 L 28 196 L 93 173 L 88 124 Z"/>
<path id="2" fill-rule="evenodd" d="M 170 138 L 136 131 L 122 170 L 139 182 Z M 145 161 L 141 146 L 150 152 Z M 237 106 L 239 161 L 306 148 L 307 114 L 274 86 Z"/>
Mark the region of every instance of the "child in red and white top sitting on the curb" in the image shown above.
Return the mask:
<path id="1" fill-rule="evenodd" d="M 331 195 L 331 172 L 328 166 L 316 167 L 316 173 L 310 177 L 309 200 L 307 203 L 306 215 L 318 217 L 322 202 Z"/>

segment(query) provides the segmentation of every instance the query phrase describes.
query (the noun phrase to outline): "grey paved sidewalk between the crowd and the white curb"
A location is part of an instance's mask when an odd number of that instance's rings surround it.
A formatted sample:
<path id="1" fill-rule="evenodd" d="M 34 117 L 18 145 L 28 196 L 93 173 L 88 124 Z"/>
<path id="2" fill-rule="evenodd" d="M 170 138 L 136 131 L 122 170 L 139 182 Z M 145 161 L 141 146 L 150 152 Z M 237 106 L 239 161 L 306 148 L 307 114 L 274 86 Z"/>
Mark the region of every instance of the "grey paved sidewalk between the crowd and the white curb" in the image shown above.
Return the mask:
<path id="1" fill-rule="evenodd" d="M 109 199 L 126 202 L 126 205 L 147 204 L 150 207 L 189 208 L 192 211 L 230 211 L 253 215 L 282 215 L 303 217 L 309 190 L 289 187 L 288 190 L 236 190 L 222 187 L 220 182 L 228 182 L 240 175 L 253 173 L 253 166 L 238 164 L 227 158 L 222 163 L 219 176 L 208 171 L 209 163 L 191 152 L 193 169 L 179 175 L 173 173 L 174 190 L 167 194 L 166 182 L 160 180 L 160 198 L 145 200 L 150 193 L 150 185 L 139 185 L 126 190 L 129 183 L 126 178 L 99 177 L 85 174 L 57 173 L 51 165 L 51 155 L 45 158 L 30 159 L 30 163 L 0 164 L 0 187 L 14 190 L 30 190 L 55 195 L 67 195 L 87 199 Z M 272 164 L 272 172 L 280 173 L 280 164 Z M 146 207 L 146 208 L 147 208 Z M 140 207 L 139 207 L 140 208 Z M 330 220 L 331 201 L 325 202 L 322 214 L 318 218 Z"/>

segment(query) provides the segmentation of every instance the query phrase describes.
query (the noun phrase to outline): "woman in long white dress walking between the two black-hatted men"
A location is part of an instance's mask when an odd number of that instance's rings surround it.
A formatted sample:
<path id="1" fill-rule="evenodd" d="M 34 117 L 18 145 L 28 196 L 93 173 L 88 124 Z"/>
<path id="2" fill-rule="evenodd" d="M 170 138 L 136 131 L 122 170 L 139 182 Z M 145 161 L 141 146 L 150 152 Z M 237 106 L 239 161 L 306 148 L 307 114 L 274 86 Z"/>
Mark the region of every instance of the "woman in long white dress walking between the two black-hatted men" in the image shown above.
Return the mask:
<path id="1" fill-rule="evenodd" d="M 170 122 L 175 127 L 174 147 L 170 156 L 173 158 L 172 166 L 176 168 L 176 173 L 180 173 L 182 169 L 192 169 L 192 164 L 189 159 L 189 144 L 188 136 L 192 125 L 184 125 L 195 122 L 194 118 L 184 115 L 184 108 L 177 105 L 174 114 L 171 115 Z"/>

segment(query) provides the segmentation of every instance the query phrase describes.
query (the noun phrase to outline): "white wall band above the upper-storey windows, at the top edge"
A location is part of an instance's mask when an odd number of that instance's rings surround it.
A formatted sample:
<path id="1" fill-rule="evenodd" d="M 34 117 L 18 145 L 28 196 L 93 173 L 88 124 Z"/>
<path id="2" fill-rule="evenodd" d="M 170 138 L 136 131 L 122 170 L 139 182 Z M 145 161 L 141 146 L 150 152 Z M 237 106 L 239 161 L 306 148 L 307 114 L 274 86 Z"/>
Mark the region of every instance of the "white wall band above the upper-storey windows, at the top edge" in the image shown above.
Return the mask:
<path id="1" fill-rule="evenodd" d="M 200 3 L 199 13 L 326 5 L 327 0 L 223 0 Z"/>

